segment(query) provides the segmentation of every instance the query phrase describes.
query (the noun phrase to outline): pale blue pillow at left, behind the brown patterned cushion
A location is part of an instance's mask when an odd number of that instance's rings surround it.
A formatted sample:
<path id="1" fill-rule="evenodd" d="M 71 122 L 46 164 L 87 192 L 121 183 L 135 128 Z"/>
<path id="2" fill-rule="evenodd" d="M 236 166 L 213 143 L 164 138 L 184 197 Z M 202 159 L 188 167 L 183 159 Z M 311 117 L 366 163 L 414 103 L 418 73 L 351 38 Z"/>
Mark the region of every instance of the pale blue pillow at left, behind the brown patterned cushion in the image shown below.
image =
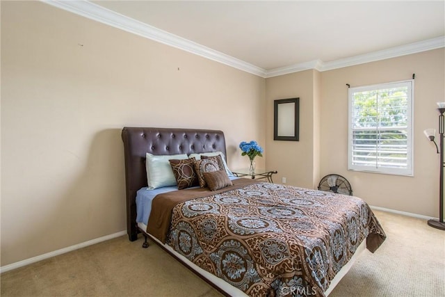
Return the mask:
<path id="1" fill-rule="evenodd" d="M 173 175 L 172 166 L 168 160 L 188 159 L 187 154 L 168 154 L 156 156 L 147 152 L 145 160 L 145 169 L 147 170 L 147 184 L 150 190 L 161 188 L 163 186 L 175 186 L 176 179 Z"/>

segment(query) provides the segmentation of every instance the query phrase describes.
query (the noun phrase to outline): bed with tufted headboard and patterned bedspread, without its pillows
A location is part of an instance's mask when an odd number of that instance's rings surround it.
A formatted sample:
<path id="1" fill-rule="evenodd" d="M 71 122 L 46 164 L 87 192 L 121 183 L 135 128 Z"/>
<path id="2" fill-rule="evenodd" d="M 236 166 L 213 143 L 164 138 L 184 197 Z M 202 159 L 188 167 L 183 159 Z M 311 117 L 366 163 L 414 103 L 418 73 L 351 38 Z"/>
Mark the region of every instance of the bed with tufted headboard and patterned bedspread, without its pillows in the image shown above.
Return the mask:
<path id="1" fill-rule="evenodd" d="M 327 296 L 364 248 L 374 252 L 385 241 L 359 198 L 229 177 L 221 164 L 229 184 L 215 191 L 161 185 L 149 218 L 140 218 L 148 156 L 213 153 L 227 167 L 225 136 L 124 127 L 122 140 L 129 240 L 143 234 L 146 247 L 149 237 L 226 296 Z"/>

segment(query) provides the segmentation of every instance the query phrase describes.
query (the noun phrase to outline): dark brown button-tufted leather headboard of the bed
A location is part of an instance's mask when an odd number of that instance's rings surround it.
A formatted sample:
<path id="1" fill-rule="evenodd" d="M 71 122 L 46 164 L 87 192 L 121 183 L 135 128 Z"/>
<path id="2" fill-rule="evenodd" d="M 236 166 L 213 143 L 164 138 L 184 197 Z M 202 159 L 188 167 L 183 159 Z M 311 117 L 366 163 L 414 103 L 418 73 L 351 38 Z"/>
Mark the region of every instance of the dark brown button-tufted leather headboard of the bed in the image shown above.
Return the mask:
<path id="1" fill-rule="evenodd" d="M 136 192 L 147 186 L 147 152 L 156 155 L 223 152 L 227 157 L 224 133 L 219 130 L 124 127 L 122 141 L 127 191 L 127 234 L 131 241 L 138 238 Z"/>

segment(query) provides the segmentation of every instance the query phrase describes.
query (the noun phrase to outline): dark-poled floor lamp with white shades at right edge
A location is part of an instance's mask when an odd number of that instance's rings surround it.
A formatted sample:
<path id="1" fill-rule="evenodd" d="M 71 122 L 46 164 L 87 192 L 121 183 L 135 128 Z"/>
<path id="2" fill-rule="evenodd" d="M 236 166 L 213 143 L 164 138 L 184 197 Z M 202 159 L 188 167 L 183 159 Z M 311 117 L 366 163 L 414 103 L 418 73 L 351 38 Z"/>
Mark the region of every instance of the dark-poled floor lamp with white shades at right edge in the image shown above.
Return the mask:
<path id="1" fill-rule="evenodd" d="M 440 154 L 440 174 L 439 174 L 439 220 L 434 218 L 428 220 L 428 225 L 434 227 L 436 229 L 445 230 L 445 222 L 444 222 L 444 134 L 445 134 L 445 102 L 437 102 L 439 108 L 439 148 L 437 147 L 437 143 L 435 142 L 435 129 L 426 129 L 423 131 L 425 135 L 428 137 L 430 141 L 432 141 L 436 145 L 437 153 Z"/>

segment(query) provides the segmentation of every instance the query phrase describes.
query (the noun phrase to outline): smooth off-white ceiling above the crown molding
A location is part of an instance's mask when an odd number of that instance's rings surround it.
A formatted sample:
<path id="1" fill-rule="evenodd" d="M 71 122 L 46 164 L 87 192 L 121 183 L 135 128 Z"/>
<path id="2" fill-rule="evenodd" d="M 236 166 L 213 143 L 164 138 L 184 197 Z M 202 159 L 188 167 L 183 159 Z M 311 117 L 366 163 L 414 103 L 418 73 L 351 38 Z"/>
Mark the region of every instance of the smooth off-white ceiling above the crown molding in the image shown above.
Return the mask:
<path id="1" fill-rule="evenodd" d="M 435 40 L 437 47 L 439 40 L 444 46 L 445 1 L 90 3 L 266 72 L 403 50 L 416 42 Z"/>

